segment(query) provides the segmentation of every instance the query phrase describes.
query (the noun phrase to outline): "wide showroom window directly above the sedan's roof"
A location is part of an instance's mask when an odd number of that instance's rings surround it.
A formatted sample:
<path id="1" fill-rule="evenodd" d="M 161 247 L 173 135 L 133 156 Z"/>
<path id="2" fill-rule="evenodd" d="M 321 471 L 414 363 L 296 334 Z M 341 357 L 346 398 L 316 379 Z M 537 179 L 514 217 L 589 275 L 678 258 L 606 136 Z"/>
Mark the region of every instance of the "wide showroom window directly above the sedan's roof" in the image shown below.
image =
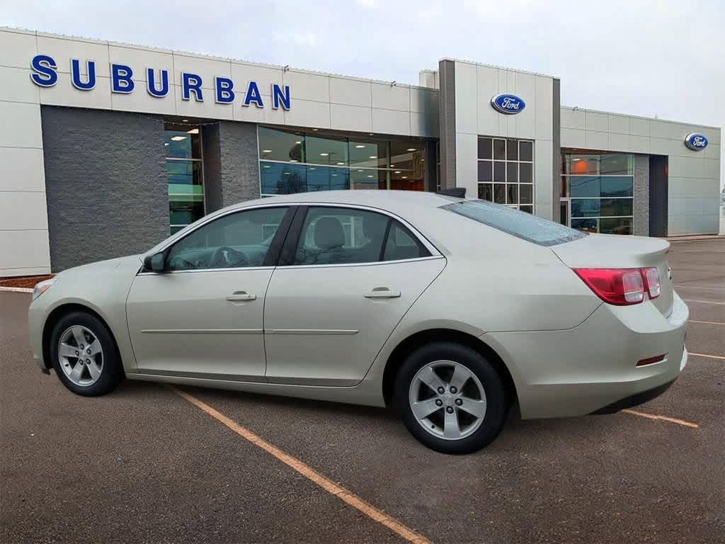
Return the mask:
<path id="1" fill-rule="evenodd" d="M 259 146 L 262 196 L 336 189 L 425 190 L 423 139 L 350 138 L 260 126 Z"/>

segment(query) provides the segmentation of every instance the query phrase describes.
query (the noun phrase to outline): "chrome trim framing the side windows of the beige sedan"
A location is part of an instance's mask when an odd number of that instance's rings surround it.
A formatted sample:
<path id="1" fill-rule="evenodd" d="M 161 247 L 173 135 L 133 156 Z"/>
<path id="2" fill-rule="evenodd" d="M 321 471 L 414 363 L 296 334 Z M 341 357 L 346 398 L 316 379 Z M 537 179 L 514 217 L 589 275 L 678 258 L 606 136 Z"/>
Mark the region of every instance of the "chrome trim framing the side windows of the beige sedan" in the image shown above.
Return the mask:
<path id="1" fill-rule="evenodd" d="M 173 244 L 180 242 L 182 239 L 186 238 L 186 236 L 189 236 L 191 233 L 195 232 L 196 229 L 202 228 L 202 226 L 206 225 L 207 223 L 210 223 L 211 221 L 215 221 L 216 219 L 220 219 L 223 217 L 226 217 L 227 215 L 230 215 L 232 213 L 241 213 L 246 212 L 250 210 L 257 210 L 261 208 L 267 208 L 267 207 L 294 207 L 294 206 L 314 206 L 314 207 L 336 207 L 336 208 L 352 208 L 353 210 L 365 210 L 370 211 L 373 213 L 381 213 L 383 215 L 387 215 L 390 218 L 395 219 L 396 221 L 399 221 L 403 225 L 405 225 L 410 232 L 415 236 L 421 244 L 423 244 L 424 247 L 426 247 L 426 250 L 431 253 L 430 257 L 415 257 L 413 259 L 402 259 L 402 260 L 381 260 L 381 261 L 373 261 L 372 263 L 349 263 L 349 264 L 335 264 L 335 265 L 297 265 L 297 266 L 354 266 L 354 265 L 370 265 L 370 264 L 379 264 L 379 263 L 402 263 L 402 262 L 409 262 L 411 260 L 422 260 L 422 259 L 430 259 L 431 257 L 443 257 L 442 252 L 438 250 L 437 247 L 435 247 L 433 244 L 431 244 L 430 241 L 426 238 L 426 236 L 423 236 L 421 234 L 421 231 L 418 231 L 417 228 L 415 228 L 413 225 L 408 223 L 404 218 L 400 217 L 399 215 L 396 215 L 392 212 L 389 212 L 388 210 L 383 210 L 382 208 L 374 207 L 374 206 L 366 206 L 366 205 L 359 205 L 359 204 L 345 204 L 344 202 L 312 202 L 312 201 L 303 201 L 303 202 L 269 202 L 265 203 L 262 202 L 261 204 L 254 204 L 249 206 L 241 206 L 241 207 L 235 207 L 231 210 L 224 210 L 220 213 L 215 213 L 212 215 L 205 215 L 204 218 L 199 219 L 197 225 L 194 226 L 190 231 L 183 234 L 183 236 L 178 236 L 181 231 L 176 233 L 172 239 L 170 239 L 167 244 L 164 244 L 157 252 L 166 251 L 169 247 L 173 246 Z M 147 255 L 148 252 L 144 253 L 144 255 Z M 269 266 L 249 266 L 249 267 L 239 267 L 239 268 L 195 268 L 194 270 L 183 270 L 183 271 L 168 271 L 168 272 L 162 272 L 162 274 L 167 273 L 179 273 L 179 272 L 203 272 L 203 271 L 230 271 L 230 270 L 260 270 L 265 268 L 289 268 L 287 266 L 281 266 L 281 267 L 269 267 Z M 158 272 L 141 272 L 141 274 L 158 274 Z M 139 275 L 141 275 L 139 274 Z"/>

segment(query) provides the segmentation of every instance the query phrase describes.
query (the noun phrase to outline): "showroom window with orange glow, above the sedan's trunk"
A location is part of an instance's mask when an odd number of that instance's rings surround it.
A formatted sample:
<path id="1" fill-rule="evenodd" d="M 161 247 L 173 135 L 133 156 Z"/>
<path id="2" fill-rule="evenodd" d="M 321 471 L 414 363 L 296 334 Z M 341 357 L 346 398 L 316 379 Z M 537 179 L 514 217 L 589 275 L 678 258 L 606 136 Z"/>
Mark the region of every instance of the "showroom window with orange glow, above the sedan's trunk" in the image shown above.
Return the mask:
<path id="1" fill-rule="evenodd" d="M 573 228 L 632 234 L 633 155 L 564 152 L 562 167 L 562 197 L 570 199 Z"/>

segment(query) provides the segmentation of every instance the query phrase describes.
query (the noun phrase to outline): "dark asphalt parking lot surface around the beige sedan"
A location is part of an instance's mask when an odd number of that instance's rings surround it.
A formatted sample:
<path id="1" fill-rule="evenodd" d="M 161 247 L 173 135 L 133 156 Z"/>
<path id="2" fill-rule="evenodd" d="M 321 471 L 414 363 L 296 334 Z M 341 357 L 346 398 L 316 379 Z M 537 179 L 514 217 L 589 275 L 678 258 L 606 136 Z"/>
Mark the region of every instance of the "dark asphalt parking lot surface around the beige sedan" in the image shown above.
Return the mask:
<path id="1" fill-rule="evenodd" d="M 512 417 L 460 457 L 380 409 L 128 381 L 72 395 L 33 365 L 30 295 L 0 292 L 0 542 L 724 542 L 725 239 L 674 242 L 670 264 L 690 359 L 665 395 Z"/>

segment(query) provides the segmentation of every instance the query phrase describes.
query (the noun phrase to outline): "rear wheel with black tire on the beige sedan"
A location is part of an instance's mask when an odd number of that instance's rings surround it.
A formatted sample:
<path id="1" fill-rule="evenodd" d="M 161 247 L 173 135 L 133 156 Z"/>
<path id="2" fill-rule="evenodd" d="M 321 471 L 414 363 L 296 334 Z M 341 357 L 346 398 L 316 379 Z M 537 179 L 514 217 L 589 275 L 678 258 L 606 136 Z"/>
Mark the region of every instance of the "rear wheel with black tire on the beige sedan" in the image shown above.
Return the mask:
<path id="1" fill-rule="evenodd" d="M 472 453 L 501 432 L 508 414 L 494 367 L 470 347 L 436 342 L 410 354 L 395 382 L 395 400 L 410 434 L 432 450 Z"/>

